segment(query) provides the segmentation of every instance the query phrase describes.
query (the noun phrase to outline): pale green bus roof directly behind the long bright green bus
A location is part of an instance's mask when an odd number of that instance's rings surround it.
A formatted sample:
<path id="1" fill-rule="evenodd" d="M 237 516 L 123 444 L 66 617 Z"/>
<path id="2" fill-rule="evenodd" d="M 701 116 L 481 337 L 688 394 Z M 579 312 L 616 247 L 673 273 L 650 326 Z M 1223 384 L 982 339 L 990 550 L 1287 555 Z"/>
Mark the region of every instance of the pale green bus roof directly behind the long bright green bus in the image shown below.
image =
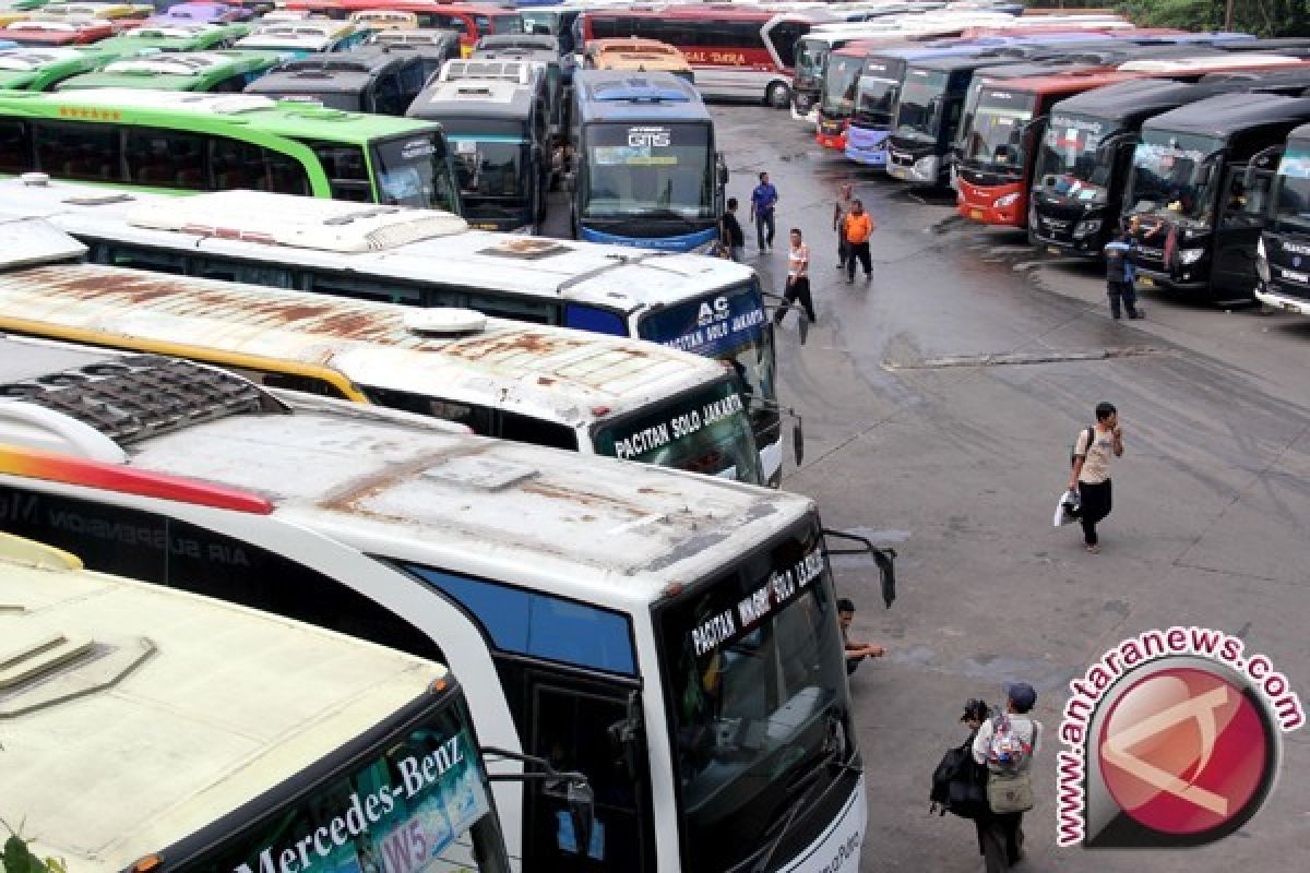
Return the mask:
<path id="1" fill-rule="evenodd" d="M 240 94 L 279 63 L 282 55 L 271 51 L 177 51 L 122 58 L 66 79 L 55 90 L 148 88 Z"/>

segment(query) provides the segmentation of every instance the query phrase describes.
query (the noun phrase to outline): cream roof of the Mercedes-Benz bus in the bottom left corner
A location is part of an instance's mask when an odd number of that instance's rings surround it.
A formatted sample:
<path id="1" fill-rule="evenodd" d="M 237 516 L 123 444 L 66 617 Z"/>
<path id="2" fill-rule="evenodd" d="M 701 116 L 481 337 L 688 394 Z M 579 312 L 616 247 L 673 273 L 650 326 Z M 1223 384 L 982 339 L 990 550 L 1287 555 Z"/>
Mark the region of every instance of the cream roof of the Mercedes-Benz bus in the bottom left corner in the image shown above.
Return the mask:
<path id="1" fill-rule="evenodd" d="M 0 702 L 0 806 L 38 856 L 79 873 L 179 843 L 449 681 L 438 664 L 94 573 L 9 534 L 0 603 L 5 656 L 46 666 Z"/>

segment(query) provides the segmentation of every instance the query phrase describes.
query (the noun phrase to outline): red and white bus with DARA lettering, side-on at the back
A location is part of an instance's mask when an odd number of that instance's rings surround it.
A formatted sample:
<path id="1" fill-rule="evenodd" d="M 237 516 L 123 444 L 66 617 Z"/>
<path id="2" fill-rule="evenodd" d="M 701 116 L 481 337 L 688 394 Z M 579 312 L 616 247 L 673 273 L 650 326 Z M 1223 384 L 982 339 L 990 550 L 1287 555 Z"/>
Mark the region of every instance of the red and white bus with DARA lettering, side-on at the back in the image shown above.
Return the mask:
<path id="1" fill-rule="evenodd" d="M 591 9 L 574 25 L 583 45 L 592 39 L 645 37 L 676 46 L 696 71 L 706 97 L 762 98 L 774 109 L 791 103 L 796 41 L 831 13 L 777 12 L 697 4 L 663 9 Z"/>

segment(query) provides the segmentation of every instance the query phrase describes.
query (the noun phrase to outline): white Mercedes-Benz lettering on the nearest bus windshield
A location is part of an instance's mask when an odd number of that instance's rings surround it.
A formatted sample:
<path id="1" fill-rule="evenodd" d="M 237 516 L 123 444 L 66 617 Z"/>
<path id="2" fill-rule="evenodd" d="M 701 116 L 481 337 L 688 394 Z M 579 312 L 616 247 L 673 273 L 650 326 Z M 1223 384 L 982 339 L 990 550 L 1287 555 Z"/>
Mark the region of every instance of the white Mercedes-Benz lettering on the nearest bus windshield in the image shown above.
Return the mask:
<path id="1" fill-rule="evenodd" d="M 401 775 L 400 785 L 381 785 L 364 796 L 354 792 L 346 801 L 346 809 L 330 821 L 324 821 L 313 832 L 304 834 L 295 842 L 284 843 L 280 852 L 267 846 L 259 852 L 259 873 L 307 873 L 314 864 L 324 861 L 337 849 L 352 843 L 369 831 L 369 826 L 380 823 L 396 811 L 396 801 L 413 800 L 427 788 L 435 785 L 445 772 L 464 760 L 460 737 L 447 739 L 436 751 L 423 755 L 410 755 L 397 762 Z M 403 822 L 393 822 L 402 825 Z M 246 863 L 232 868 L 232 873 L 255 873 Z"/>

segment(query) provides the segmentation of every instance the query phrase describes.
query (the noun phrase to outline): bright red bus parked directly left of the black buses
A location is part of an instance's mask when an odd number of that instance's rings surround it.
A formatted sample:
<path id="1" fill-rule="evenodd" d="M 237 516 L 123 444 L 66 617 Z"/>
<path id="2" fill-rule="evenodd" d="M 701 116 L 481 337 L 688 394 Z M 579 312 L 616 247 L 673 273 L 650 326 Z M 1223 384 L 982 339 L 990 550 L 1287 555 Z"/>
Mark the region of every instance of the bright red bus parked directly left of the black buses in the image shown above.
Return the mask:
<path id="1" fill-rule="evenodd" d="M 1058 73 L 986 84 L 969 128 L 960 137 L 956 165 L 956 211 L 981 224 L 1027 228 L 1028 192 L 1039 148 L 1074 145 L 1086 134 L 1045 131 L 1051 107 L 1066 97 L 1102 85 L 1144 77 L 1196 81 L 1225 69 L 1297 65 L 1277 55 L 1205 55 L 1134 60 L 1111 72 Z M 1047 137 L 1055 137 L 1047 143 Z"/>

